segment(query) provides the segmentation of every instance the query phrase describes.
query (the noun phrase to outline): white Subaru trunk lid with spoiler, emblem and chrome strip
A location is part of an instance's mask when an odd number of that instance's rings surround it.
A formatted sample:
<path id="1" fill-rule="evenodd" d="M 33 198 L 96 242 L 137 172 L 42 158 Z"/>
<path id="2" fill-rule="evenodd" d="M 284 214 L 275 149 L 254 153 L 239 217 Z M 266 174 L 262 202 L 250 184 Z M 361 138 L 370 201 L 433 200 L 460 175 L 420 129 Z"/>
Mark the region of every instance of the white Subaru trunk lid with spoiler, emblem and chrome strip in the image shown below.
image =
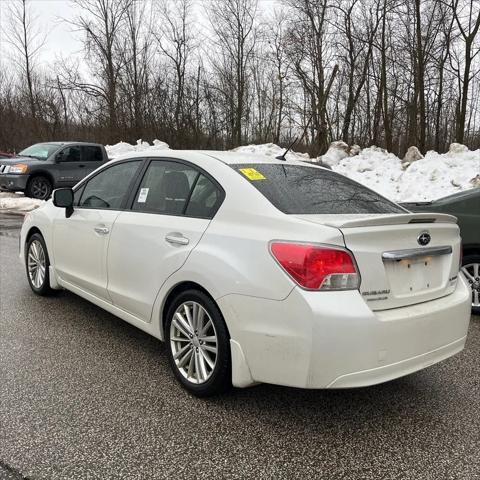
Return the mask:
<path id="1" fill-rule="evenodd" d="M 352 251 L 372 310 L 413 305 L 455 289 L 460 236 L 444 214 L 297 215 L 338 228 Z"/>

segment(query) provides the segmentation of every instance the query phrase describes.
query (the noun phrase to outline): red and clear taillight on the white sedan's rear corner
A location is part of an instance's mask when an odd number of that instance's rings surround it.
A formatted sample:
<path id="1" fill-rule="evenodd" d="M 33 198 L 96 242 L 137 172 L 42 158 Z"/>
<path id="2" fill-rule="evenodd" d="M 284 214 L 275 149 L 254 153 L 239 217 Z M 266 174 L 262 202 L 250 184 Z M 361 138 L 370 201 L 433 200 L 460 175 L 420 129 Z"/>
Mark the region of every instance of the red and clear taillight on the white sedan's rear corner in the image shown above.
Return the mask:
<path id="1" fill-rule="evenodd" d="M 309 290 L 353 290 L 360 285 L 355 261 L 335 247 L 274 242 L 272 255 L 301 287 Z"/>

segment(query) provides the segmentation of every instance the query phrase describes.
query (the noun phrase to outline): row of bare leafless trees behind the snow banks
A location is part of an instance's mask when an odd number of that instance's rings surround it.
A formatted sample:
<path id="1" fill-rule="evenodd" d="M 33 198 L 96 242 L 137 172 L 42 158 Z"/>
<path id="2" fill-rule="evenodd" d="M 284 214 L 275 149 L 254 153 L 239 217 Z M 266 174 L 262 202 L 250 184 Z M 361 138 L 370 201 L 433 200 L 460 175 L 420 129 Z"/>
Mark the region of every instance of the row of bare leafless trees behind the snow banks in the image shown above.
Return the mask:
<path id="1" fill-rule="evenodd" d="M 478 0 L 280 0 L 275 14 L 208 0 L 202 28 L 195 1 L 74 0 L 86 61 L 52 68 L 36 3 L 12 0 L 0 148 L 66 136 L 232 148 L 304 129 L 295 148 L 312 155 L 337 139 L 399 155 L 480 147 Z"/>

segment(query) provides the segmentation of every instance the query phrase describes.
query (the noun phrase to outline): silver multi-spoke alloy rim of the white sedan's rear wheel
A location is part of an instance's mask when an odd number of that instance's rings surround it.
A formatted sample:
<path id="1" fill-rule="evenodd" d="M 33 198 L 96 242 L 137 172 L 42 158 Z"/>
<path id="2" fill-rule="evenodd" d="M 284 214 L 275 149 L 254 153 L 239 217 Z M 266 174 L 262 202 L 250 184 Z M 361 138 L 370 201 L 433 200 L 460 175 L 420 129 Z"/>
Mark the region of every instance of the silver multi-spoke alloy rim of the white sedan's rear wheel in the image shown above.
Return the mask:
<path id="1" fill-rule="evenodd" d="M 178 306 L 170 324 L 170 348 L 178 371 L 191 383 L 205 383 L 217 363 L 217 333 L 199 303 Z"/>

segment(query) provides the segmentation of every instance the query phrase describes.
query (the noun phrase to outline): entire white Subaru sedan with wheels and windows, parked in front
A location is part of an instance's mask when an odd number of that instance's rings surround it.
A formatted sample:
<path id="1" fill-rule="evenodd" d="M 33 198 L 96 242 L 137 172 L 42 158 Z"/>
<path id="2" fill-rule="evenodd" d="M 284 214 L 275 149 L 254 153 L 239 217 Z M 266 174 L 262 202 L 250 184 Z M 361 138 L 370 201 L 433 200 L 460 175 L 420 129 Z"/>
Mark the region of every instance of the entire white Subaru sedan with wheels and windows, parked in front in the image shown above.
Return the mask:
<path id="1" fill-rule="evenodd" d="M 164 340 L 205 396 L 373 385 L 456 354 L 460 246 L 455 217 L 319 166 L 162 151 L 56 190 L 25 218 L 20 257 L 36 294 L 70 290 Z"/>

